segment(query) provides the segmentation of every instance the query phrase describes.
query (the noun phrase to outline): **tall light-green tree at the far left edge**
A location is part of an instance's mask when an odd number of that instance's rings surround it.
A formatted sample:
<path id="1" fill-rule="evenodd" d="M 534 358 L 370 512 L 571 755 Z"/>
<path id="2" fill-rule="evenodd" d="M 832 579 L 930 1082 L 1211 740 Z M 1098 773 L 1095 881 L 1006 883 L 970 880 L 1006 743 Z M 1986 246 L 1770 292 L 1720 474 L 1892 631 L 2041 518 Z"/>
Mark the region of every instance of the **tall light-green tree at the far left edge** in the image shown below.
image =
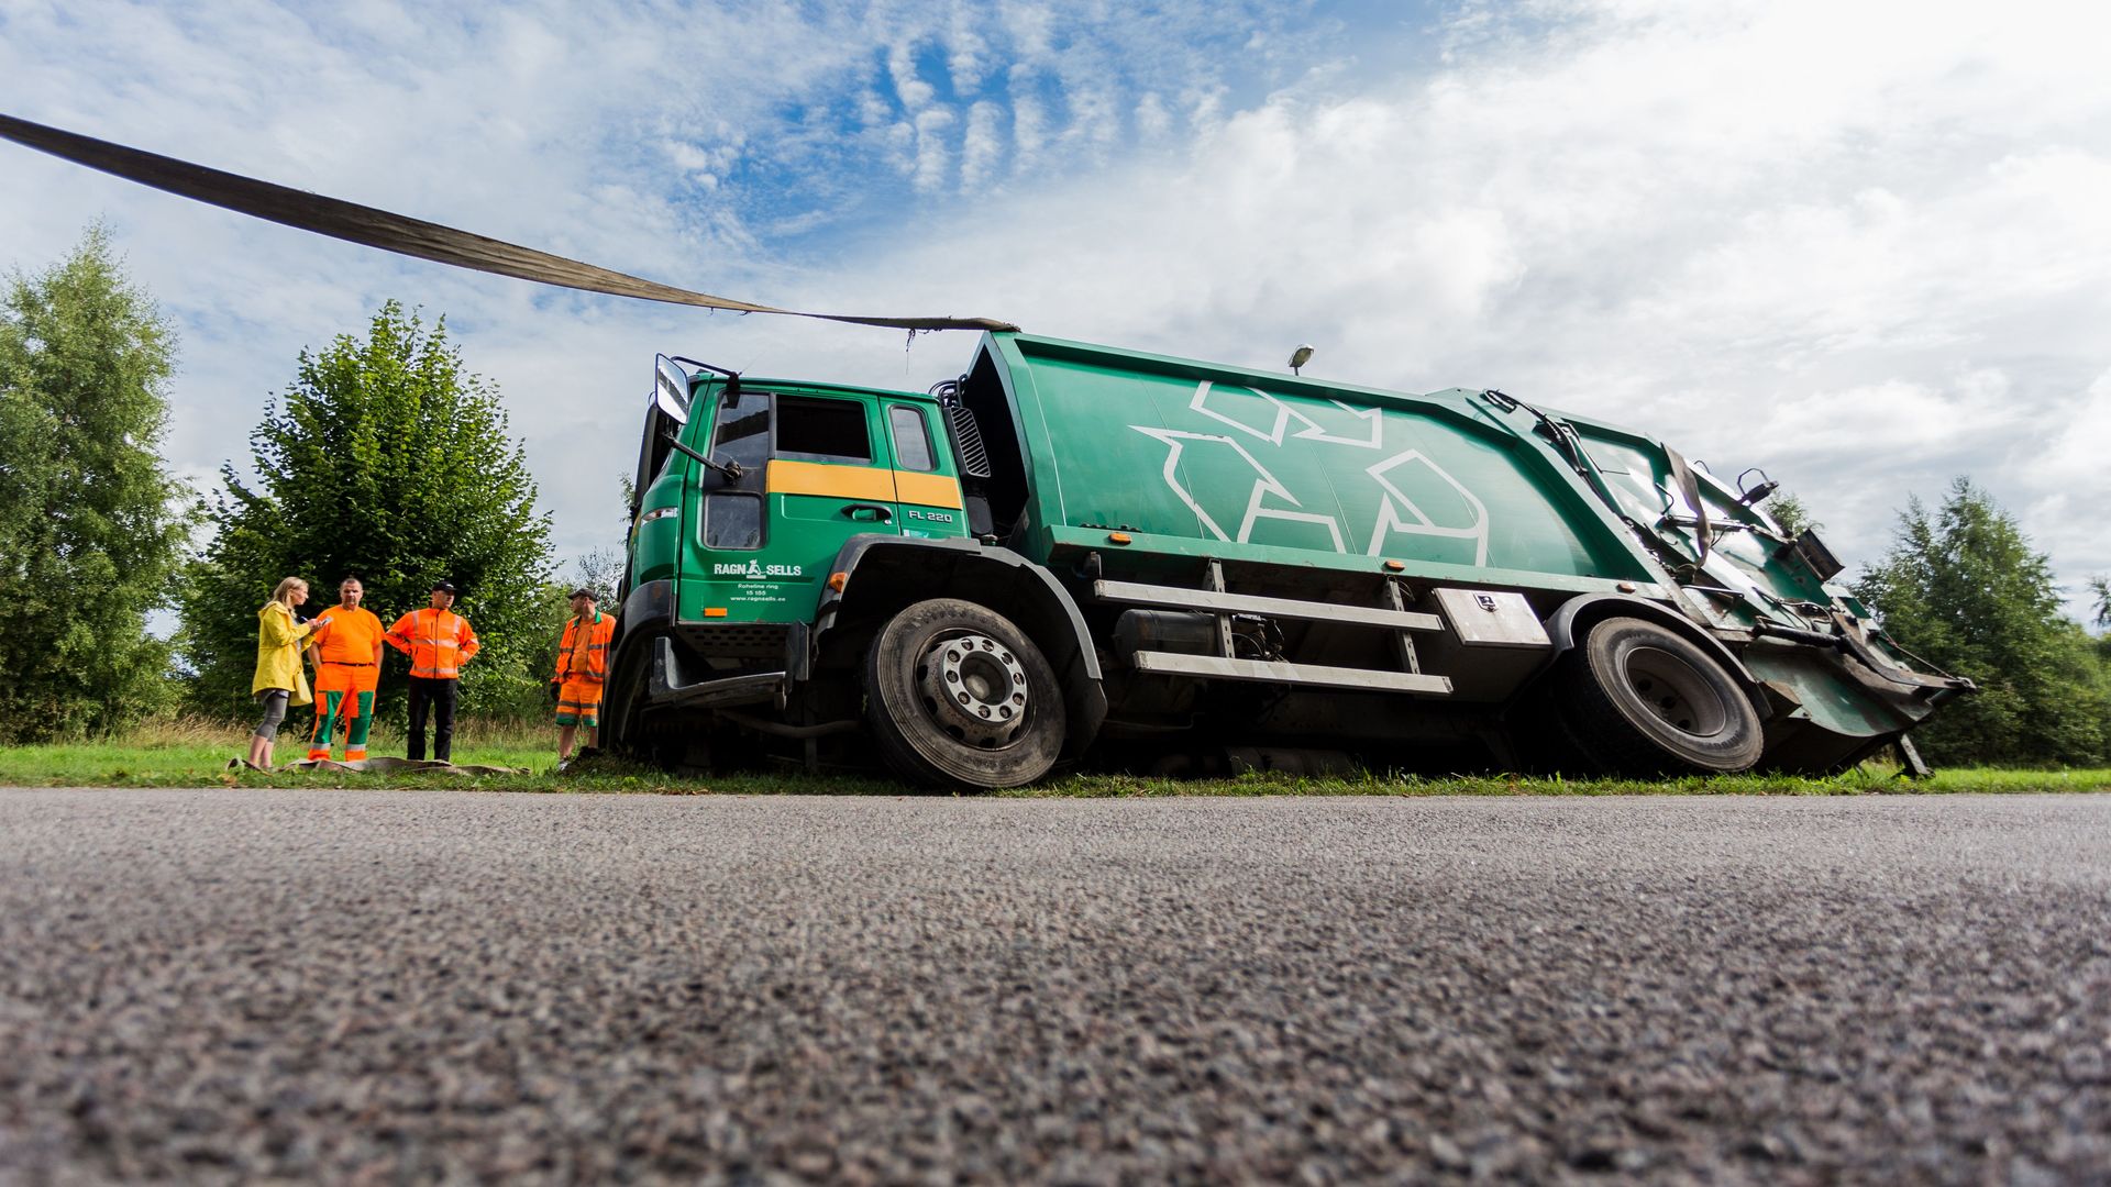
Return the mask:
<path id="1" fill-rule="evenodd" d="M 0 315 L 0 741 L 110 733 L 169 703 L 169 604 L 194 501 L 158 446 L 175 332 L 101 224 Z"/>

